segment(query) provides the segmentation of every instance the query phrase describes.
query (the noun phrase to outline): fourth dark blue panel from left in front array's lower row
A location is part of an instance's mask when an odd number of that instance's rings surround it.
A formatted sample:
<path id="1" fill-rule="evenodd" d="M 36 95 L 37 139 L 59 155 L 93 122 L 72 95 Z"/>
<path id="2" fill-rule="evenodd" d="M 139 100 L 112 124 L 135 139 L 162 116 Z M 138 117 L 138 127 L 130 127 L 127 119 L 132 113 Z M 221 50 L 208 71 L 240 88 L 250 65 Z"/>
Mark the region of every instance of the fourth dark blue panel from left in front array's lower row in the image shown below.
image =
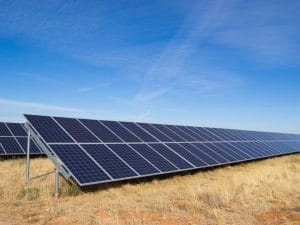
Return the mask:
<path id="1" fill-rule="evenodd" d="M 175 171 L 177 168 L 173 166 L 169 161 L 167 161 L 163 156 L 159 155 L 157 152 L 152 150 L 146 144 L 131 144 L 138 153 L 140 153 L 144 158 L 151 162 L 156 168 L 162 172 Z"/>

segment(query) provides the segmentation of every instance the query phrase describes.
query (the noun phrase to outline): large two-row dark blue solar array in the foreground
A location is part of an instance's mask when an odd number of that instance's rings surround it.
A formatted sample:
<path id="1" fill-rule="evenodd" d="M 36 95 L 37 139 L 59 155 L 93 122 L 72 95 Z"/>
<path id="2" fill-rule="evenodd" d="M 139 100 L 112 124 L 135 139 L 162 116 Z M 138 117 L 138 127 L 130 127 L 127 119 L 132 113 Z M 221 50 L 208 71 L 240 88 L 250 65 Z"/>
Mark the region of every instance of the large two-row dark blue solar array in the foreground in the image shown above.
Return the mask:
<path id="1" fill-rule="evenodd" d="M 188 171 L 300 150 L 300 135 L 25 115 L 80 186 Z"/>

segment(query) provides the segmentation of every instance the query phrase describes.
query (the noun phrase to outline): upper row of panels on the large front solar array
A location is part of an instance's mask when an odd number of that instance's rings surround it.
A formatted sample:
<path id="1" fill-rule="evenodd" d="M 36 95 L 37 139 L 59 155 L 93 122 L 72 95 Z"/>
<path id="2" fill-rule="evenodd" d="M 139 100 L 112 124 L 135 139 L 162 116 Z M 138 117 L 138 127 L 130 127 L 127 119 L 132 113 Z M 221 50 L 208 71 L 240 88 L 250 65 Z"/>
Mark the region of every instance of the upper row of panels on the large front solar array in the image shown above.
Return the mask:
<path id="1" fill-rule="evenodd" d="M 26 116 L 48 143 L 300 140 L 300 135 L 133 122 Z"/>

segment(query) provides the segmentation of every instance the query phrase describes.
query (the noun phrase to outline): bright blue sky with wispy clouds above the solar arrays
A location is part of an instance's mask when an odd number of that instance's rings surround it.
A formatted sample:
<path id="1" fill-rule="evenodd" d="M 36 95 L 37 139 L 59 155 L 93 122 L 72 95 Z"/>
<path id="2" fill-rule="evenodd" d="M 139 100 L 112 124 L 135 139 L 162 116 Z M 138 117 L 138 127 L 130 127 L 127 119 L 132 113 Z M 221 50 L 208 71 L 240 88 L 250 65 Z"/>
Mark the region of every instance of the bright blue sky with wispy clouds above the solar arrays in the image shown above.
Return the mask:
<path id="1" fill-rule="evenodd" d="M 300 133 L 299 1 L 0 0 L 0 120 Z"/>

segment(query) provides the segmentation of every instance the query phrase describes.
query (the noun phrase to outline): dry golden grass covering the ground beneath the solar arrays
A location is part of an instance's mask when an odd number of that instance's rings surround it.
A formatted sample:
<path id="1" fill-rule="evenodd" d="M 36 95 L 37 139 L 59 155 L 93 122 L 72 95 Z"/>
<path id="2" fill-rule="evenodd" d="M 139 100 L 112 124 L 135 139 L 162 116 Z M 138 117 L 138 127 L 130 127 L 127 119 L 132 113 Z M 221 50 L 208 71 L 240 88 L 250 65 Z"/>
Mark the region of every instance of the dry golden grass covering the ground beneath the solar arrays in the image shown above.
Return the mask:
<path id="1" fill-rule="evenodd" d="M 0 161 L 0 225 L 300 224 L 300 154 L 77 196 L 62 181 L 59 199 L 53 175 L 24 192 L 24 167 L 24 159 Z M 33 174 L 51 168 L 32 160 Z"/>

